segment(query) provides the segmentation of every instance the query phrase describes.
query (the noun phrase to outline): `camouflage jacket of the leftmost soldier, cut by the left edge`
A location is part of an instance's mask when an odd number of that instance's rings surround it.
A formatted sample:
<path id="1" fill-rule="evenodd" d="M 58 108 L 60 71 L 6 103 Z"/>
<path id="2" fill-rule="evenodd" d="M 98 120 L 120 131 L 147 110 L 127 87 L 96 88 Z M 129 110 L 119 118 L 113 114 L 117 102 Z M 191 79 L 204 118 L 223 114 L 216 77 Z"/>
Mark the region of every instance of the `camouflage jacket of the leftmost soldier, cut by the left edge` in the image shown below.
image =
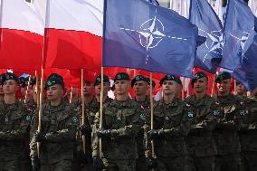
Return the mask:
<path id="1" fill-rule="evenodd" d="M 29 138 L 31 117 L 22 102 L 12 105 L 0 102 L 0 160 L 20 160 L 24 142 Z"/>

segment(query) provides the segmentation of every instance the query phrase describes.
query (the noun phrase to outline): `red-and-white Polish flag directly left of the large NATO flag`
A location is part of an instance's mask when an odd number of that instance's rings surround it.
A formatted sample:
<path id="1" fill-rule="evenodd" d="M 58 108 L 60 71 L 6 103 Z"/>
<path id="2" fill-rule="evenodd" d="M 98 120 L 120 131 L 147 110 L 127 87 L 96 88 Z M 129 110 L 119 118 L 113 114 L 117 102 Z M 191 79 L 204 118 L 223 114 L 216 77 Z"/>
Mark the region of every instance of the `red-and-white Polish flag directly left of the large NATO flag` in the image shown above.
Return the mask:
<path id="1" fill-rule="evenodd" d="M 49 0 L 45 68 L 100 71 L 103 0 Z"/>

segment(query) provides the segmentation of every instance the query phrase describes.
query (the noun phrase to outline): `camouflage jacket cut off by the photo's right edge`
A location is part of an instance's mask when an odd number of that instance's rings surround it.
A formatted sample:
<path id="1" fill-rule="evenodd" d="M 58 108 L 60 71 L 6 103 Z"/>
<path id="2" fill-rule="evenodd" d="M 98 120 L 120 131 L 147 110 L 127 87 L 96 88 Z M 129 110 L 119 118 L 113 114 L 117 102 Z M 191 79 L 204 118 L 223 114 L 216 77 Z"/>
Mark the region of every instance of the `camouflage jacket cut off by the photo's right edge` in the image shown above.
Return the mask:
<path id="1" fill-rule="evenodd" d="M 243 151 L 257 151 L 257 96 L 245 98 L 246 114 L 239 135 Z"/>

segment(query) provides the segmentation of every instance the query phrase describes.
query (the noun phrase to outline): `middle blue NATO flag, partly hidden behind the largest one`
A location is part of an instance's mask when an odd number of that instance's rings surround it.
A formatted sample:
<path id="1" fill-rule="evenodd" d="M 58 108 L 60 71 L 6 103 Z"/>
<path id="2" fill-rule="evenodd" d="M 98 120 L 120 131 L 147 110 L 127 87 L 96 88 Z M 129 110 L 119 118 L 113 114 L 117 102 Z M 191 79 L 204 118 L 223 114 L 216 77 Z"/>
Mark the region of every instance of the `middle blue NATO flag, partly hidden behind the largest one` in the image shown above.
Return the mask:
<path id="1" fill-rule="evenodd" d="M 216 73 L 224 46 L 219 17 L 206 0 L 191 0 L 189 20 L 198 27 L 198 34 L 206 37 L 205 43 L 197 47 L 195 66 Z"/>

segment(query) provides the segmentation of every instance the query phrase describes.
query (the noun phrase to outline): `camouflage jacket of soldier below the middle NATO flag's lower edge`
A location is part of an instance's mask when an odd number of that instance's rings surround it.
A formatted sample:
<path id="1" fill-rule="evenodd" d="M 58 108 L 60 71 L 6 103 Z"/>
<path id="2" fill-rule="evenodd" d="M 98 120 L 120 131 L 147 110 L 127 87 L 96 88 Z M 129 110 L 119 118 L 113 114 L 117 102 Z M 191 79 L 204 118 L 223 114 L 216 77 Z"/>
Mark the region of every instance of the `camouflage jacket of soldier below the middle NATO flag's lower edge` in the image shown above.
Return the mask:
<path id="1" fill-rule="evenodd" d="M 189 155 L 197 157 L 214 156 L 217 151 L 214 144 L 213 130 L 217 121 L 214 100 L 205 95 L 203 100 L 196 100 L 195 95 L 186 98 L 189 109 L 190 130 L 186 138 Z"/>

